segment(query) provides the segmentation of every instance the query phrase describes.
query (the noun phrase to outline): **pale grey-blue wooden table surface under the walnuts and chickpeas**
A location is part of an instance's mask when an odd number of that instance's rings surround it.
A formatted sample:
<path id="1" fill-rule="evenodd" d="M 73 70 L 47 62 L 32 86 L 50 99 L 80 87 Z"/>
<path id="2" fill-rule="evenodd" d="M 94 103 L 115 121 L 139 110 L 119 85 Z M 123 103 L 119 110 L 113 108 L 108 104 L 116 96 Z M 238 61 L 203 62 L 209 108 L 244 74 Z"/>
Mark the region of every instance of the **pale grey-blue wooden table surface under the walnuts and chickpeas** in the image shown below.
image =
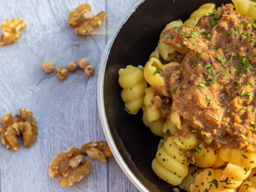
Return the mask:
<path id="1" fill-rule="evenodd" d="M 71 187 L 48 176 L 51 160 L 59 152 L 90 141 L 105 140 L 97 107 L 97 76 L 109 36 L 136 0 L 0 0 L 0 23 L 20 17 L 27 27 L 20 39 L 0 47 L 0 116 L 19 108 L 33 112 L 38 121 L 37 141 L 30 148 L 8 150 L 0 146 L 0 191 L 138 191 L 114 158 L 92 159 L 90 173 Z M 105 11 L 105 22 L 91 35 L 77 36 L 67 24 L 70 11 L 89 3 L 92 13 Z M 70 61 L 88 57 L 95 76 L 78 69 L 61 82 L 56 71 L 47 74 L 42 63 L 53 61 L 67 68 Z"/>

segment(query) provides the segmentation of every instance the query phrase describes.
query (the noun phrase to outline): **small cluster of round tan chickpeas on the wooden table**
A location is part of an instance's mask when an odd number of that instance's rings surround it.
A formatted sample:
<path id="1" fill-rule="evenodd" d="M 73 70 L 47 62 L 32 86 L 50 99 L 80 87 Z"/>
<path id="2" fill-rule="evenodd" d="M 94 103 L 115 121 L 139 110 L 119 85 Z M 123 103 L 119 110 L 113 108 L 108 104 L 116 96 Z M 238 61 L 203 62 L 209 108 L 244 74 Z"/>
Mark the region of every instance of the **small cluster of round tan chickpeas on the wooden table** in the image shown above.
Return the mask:
<path id="1" fill-rule="evenodd" d="M 80 58 L 78 60 L 78 66 L 79 66 L 79 68 L 84 70 L 84 73 L 86 73 L 87 76 L 89 76 L 89 77 L 94 76 L 95 67 L 92 66 L 92 65 L 89 65 L 88 58 Z M 76 69 L 77 69 L 77 62 L 76 61 L 70 61 L 68 63 L 67 68 L 71 72 L 76 71 Z M 46 61 L 46 62 L 42 63 L 42 69 L 44 69 L 46 73 L 52 73 L 52 72 L 55 71 L 55 65 L 51 61 Z M 63 67 L 59 67 L 57 69 L 57 76 L 58 76 L 59 80 L 61 80 L 61 81 L 65 80 L 67 78 L 67 76 L 68 76 L 67 69 L 65 69 Z"/>

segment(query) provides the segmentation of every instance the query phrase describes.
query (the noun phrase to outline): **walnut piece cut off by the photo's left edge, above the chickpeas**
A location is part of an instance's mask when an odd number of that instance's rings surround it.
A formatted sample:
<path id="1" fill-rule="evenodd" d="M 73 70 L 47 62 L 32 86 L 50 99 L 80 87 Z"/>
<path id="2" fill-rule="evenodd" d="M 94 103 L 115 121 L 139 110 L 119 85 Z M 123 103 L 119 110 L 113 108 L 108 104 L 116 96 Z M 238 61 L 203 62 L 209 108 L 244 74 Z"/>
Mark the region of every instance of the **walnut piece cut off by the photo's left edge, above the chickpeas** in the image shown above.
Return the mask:
<path id="1" fill-rule="evenodd" d="M 3 35 L 0 37 L 0 46 L 5 46 L 19 39 L 20 30 L 26 27 L 26 23 L 21 18 L 7 19 L 1 25 Z"/>

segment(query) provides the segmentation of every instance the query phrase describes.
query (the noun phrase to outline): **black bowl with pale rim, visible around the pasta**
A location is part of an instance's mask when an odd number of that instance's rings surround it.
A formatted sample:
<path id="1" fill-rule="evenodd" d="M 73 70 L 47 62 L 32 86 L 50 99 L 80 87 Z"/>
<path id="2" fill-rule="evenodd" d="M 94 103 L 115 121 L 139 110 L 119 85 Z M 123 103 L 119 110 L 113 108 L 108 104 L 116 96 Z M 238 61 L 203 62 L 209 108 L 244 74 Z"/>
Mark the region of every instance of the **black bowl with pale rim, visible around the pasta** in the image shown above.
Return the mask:
<path id="1" fill-rule="evenodd" d="M 127 65 L 144 66 L 155 50 L 159 34 L 167 23 L 189 15 L 205 3 L 231 0 L 147 0 L 138 1 L 126 13 L 110 37 L 102 56 L 98 79 L 98 105 L 103 130 L 113 154 L 127 177 L 141 191 L 174 191 L 159 179 L 151 167 L 160 137 L 142 122 L 142 111 L 124 111 L 118 70 Z"/>

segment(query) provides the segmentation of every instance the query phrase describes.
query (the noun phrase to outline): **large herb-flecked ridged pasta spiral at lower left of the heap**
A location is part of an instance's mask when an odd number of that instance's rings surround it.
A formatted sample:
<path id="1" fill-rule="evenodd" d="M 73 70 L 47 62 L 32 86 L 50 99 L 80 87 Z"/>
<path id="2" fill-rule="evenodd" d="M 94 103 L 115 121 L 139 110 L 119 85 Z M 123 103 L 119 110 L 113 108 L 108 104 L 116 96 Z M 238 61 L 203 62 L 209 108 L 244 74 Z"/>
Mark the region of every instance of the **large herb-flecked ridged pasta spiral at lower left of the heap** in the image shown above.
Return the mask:
<path id="1" fill-rule="evenodd" d="M 168 137 L 159 148 L 152 168 L 156 175 L 172 185 L 179 185 L 188 173 L 189 162 L 182 151 L 174 143 L 174 136 Z"/>

